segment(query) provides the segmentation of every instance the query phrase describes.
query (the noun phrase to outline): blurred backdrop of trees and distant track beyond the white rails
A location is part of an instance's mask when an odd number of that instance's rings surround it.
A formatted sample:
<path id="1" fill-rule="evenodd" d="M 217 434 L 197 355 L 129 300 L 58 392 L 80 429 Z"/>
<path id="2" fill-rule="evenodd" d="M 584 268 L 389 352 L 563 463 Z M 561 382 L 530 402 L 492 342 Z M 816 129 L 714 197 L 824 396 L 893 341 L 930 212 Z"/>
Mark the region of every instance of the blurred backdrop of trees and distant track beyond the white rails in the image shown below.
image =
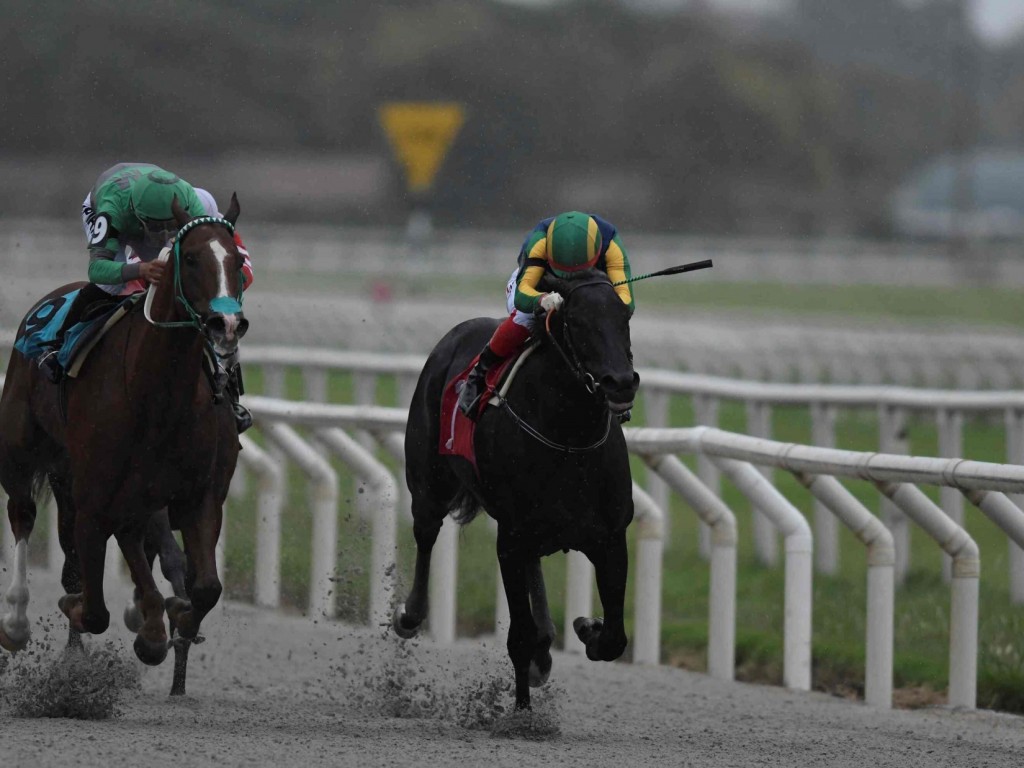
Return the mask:
<path id="1" fill-rule="evenodd" d="M 614 222 L 635 272 L 715 258 L 637 286 L 638 317 L 680 314 L 693 337 L 732 329 L 730 344 L 763 349 L 771 324 L 792 338 L 813 318 L 819 332 L 983 330 L 1006 347 L 1024 319 L 1015 0 L 0 0 L 0 12 L 2 328 L 44 283 L 84 274 L 79 205 L 121 161 L 171 169 L 223 208 L 239 193 L 259 341 L 425 351 L 450 321 L 500 314 L 525 232 L 567 209 Z M 416 190 L 382 119 L 408 101 L 460 116 Z M 289 293 L 369 303 L 297 339 L 283 330 Z M 369 308 L 453 296 L 458 309 L 416 340 Z"/>

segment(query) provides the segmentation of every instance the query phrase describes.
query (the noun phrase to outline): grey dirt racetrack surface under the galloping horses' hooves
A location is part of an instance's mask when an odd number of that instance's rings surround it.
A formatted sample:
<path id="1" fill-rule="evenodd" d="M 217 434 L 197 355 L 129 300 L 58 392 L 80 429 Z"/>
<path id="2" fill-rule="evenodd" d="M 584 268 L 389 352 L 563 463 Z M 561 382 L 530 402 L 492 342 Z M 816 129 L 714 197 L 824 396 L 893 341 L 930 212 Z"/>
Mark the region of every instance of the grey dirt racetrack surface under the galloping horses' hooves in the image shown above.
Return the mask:
<path id="1" fill-rule="evenodd" d="M 142 670 L 140 687 L 120 690 L 114 717 L 22 717 L 38 695 L 32 681 L 52 667 L 65 637 L 52 580 L 33 575 L 34 650 L 0 663 L 5 766 L 1009 768 L 1024 756 L 1019 717 L 878 712 L 821 693 L 561 653 L 549 685 L 535 691 L 535 713 L 510 716 L 503 643 L 401 643 L 238 603 L 205 626 L 187 696 L 167 695 L 169 658 Z M 119 605 L 112 600 L 112 612 Z M 119 622 L 90 645 L 108 639 L 139 667 Z"/>

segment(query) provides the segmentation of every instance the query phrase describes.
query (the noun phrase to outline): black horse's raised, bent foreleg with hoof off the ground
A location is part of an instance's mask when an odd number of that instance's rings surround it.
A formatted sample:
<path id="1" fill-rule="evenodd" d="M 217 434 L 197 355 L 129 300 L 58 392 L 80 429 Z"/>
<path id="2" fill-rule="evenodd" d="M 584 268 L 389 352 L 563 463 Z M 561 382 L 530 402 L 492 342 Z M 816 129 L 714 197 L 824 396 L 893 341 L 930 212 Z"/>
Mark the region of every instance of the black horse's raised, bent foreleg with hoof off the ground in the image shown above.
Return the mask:
<path id="1" fill-rule="evenodd" d="M 586 553 L 594 563 L 597 591 L 601 597 L 604 618 L 580 616 L 572 623 L 580 640 L 587 646 L 587 658 L 592 662 L 613 662 L 626 650 L 626 574 L 629 555 L 626 535 L 615 537 L 604 549 Z"/>

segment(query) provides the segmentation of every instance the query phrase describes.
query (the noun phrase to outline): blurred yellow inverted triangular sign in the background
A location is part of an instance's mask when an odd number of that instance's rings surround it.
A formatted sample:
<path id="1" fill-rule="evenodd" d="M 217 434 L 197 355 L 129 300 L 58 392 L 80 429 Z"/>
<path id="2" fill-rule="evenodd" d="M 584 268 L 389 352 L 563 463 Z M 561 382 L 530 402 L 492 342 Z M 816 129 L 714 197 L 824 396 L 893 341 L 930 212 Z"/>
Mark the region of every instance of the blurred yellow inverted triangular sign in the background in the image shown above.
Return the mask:
<path id="1" fill-rule="evenodd" d="M 406 169 L 410 190 L 429 189 L 466 118 L 462 104 L 392 101 L 380 108 L 379 117 L 391 148 Z"/>

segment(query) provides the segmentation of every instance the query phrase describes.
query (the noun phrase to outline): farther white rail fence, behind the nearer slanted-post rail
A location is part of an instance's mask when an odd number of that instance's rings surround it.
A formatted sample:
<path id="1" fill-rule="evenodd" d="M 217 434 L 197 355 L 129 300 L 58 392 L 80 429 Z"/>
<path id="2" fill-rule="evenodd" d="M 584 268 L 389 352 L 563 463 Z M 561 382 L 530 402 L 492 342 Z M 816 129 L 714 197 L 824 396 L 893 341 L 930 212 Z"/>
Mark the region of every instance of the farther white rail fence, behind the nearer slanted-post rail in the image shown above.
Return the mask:
<path id="1" fill-rule="evenodd" d="M 406 407 L 412 398 L 416 379 L 423 367 L 421 355 L 397 355 L 376 352 L 352 352 L 328 349 L 287 347 L 250 347 L 245 354 L 247 367 L 258 368 L 263 376 L 263 391 L 271 396 L 287 394 L 286 376 L 297 370 L 302 381 L 302 397 L 327 400 L 331 372 L 346 371 L 353 377 L 356 404 L 373 404 L 381 379 L 396 380 L 397 402 Z M 758 437 L 772 436 L 772 411 L 775 408 L 803 408 L 810 414 L 812 442 L 821 447 L 836 444 L 836 419 L 841 412 L 874 412 L 879 420 L 879 451 L 906 454 L 908 419 L 921 415 L 932 419 L 938 431 L 938 454 L 958 457 L 964 453 L 964 422 L 970 417 L 998 419 L 1004 424 L 1005 461 L 1024 464 L 1024 392 L 958 391 L 914 389 L 892 386 L 843 386 L 826 384 L 775 384 L 739 381 L 714 376 L 673 371 L 642 370 L 641 394 L 645 425 L 667 427 L 670 424 L 672 398 L 692 398 L 696 423 L 717 426 L 723 402 L 743 403 L 746 432 Z M 680 425 L 682 426 L 682 425 Z M 771 469 L 765 468 L 767 476 Z M 707 457 L 698 457 L 697 474 L 714 493 L 720 493 L 721 470 Z M 652 477 L 646 487 L 659 507 L 666 506 L 668 486 Z M 957 523 L 964 519 L 964 499 L 954 489 L 940 492 L 940 506 Z M 1024 497 L 1015 498 L 1018 505 Z M 407 502 L 408 503 L 408 500 Z M 896 578 L 901 583 L 910 566 L 910 528 L 905 514 L 883 495 L 883 516 L 897 540 Z M 777 536 L 764 516 L 755 518 L 755 541 L 759 558 L 771 565 L 777 561 Z M 815 505 L 814 534 L 817 543 L 815 566 L 819 572 L 839 570 L 839 527 L 835 517 L 820 503 Z M 1015 604 L 1024 604 L 1024 550 L 1008 542 L 1010 593 Z M 710 554 L 710 531 L 701 536 L 701 551 Z M 951 559 L 947 558 L 944 575 L 951 578 Z"/>

